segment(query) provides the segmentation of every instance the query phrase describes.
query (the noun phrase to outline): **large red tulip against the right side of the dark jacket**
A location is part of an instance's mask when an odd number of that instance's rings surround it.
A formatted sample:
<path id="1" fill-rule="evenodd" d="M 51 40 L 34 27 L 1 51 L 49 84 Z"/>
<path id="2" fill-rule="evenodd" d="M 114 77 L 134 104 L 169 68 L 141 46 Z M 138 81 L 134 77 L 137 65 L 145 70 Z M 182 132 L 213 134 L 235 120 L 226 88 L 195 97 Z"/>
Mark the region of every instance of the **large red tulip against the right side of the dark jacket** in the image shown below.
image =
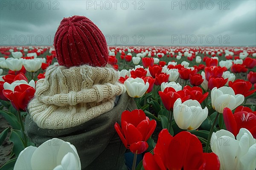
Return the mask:
<path id="1" fill-rule="evenodd" d="M 123 144 L 132 153 L 143 153 L 148 148 L 147 140 L 156 128 L 157 122 L 149 120 L 143 110 L 123 111 L 121 127 L 115 123 L 115 129 Z"/>

